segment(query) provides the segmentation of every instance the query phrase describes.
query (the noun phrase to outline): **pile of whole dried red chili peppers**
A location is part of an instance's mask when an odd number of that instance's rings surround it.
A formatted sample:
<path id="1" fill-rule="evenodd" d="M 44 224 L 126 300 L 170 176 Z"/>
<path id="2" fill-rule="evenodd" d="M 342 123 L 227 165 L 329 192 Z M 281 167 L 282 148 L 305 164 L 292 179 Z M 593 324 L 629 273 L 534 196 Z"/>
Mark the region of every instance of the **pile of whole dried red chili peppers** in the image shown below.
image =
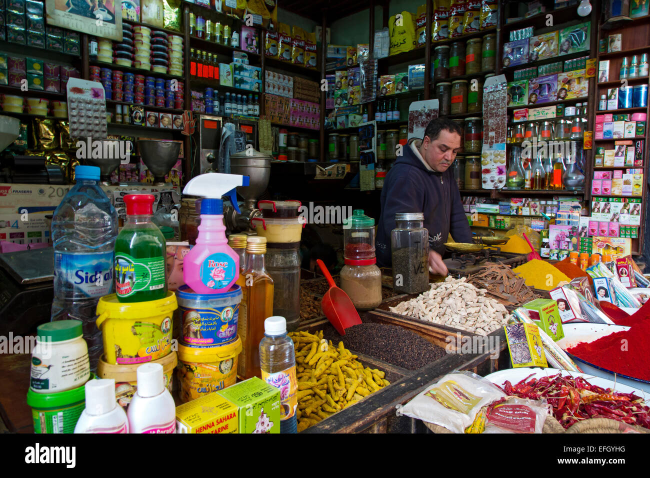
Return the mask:
<path id="1" fill-rule="evenodd" d="M 565 429 L 580 420 L 595 417 L 650 429 L 650 407 L 641 397 L 591 385 L 582 377 L 558 373 L 551 377 L 530 378 L 532 375 L 515 385 L 506 380 L 502 390 L 530 400 L 545 398 L 553 407 L 553 416 Z"/>

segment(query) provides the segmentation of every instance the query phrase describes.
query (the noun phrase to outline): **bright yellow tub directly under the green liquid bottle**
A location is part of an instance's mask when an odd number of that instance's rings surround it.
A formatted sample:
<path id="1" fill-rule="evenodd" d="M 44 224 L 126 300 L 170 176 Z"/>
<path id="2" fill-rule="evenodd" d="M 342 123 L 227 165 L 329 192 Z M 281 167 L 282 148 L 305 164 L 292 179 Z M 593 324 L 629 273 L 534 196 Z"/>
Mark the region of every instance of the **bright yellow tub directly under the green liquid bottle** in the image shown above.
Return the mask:
<path id="1" fill-rule="evenodd" d="M 104 341 L 106 362 L 143 364 L 172 351 L 172 315 L 178 303 L 172 291 L 148 302 L 119 302 L 115 294 L 97 304 L 98 328 Z"/>

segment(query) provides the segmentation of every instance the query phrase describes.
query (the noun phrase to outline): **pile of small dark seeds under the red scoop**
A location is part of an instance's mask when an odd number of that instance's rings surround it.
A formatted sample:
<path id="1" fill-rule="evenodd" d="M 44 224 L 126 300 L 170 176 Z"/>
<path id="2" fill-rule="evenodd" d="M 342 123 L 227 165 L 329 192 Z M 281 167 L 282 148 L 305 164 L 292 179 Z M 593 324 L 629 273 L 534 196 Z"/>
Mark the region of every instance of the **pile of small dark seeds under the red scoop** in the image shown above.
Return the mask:
<path id="1" fill-rule="evenodd" d="M 335 345 L 343 340 L 346 349 L 408 370 L 417 370 L 446 354 L 442 347 L 396 325 L 363 323 L 346 328 L 345 336 L 341 337 L 328 323 L 323 327 L 323 337 Z"/>

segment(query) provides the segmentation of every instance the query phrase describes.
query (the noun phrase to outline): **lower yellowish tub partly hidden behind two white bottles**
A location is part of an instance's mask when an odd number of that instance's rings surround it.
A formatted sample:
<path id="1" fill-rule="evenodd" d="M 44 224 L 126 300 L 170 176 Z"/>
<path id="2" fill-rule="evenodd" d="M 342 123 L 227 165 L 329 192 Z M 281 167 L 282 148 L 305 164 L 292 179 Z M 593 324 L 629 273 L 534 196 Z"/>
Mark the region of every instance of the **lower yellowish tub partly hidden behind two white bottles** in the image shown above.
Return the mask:
<path id="1" fill-rule="evenodd" d="M 169 393 L 172 393 L 174 386 L 174 369 L 178 364 L 178 356 L 176 352 L 153 360 L 155 364 L 162 365 L 162 378 L 164 379 L 164 386 L 166 386 Z M 134 365 L 112 365 L 104 360 L 102 356 L 97 364 L 97 375 L 99 378 L 112 378 L 115 380 L 115 397 L 118 405 L 122 406 L 126 412 L 129 403 L 135 392 L 138 391 L 138 380 L 136 377 L 136 369 L 140 364 Z"/>

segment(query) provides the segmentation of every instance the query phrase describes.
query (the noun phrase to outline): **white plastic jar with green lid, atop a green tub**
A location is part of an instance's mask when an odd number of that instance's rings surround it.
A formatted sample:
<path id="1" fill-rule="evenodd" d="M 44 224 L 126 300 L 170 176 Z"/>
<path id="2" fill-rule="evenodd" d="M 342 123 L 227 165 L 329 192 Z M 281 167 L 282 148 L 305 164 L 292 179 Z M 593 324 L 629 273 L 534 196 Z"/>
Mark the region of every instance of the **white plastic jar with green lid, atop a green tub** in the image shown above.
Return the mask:
<path id="1" fill-rule="evenodd" d="M 29 386 L 38 393 L 72 390 L 90 378 L 81 321 L 48 322 L 36 328 Z"/>

